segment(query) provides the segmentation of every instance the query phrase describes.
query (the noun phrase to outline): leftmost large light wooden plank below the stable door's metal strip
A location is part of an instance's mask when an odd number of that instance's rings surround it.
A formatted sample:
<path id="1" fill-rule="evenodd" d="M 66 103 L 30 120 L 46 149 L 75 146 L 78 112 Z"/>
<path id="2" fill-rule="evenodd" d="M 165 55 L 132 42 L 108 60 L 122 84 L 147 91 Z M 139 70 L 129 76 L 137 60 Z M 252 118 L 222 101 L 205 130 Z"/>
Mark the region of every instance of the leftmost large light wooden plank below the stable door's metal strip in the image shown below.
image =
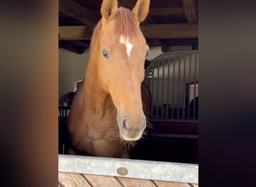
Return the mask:
<path id="1" fill-rule="evenodd" d="M 58 172 L 58 183 L 62 187 L 91 186 L 81 174 Z"/>

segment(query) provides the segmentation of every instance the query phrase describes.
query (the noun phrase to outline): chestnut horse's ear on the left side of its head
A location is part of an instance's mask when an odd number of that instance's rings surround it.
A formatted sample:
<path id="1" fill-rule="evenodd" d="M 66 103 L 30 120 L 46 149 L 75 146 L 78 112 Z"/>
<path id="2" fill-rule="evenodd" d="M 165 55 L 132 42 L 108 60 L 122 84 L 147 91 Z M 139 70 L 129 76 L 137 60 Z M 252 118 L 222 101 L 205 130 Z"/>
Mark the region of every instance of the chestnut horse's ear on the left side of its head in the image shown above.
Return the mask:
<path id="1" fill-rule="evenodd" d="M 100 12 L 104 19 L 109 20 L 115 16 L 118 10 L 118 0 L 103 0 Z"/>

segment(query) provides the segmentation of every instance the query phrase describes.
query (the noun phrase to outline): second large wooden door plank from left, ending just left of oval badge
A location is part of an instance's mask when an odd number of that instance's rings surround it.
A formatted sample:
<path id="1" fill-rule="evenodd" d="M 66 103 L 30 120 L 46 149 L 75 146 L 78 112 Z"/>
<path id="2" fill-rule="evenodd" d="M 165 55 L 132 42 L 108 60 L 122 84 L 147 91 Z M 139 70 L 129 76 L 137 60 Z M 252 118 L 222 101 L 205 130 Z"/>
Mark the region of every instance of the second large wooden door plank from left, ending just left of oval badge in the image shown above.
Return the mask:
<path id="1" fill-rule="evenodd" d="M 90 175 L 83 174 L 83 176 L 91 183 L 92 186 L 112 186 L 112 187 L 120 187 L 121 183 L 115 179 L 115 177 L 103 176 L 103 175 Z"/>

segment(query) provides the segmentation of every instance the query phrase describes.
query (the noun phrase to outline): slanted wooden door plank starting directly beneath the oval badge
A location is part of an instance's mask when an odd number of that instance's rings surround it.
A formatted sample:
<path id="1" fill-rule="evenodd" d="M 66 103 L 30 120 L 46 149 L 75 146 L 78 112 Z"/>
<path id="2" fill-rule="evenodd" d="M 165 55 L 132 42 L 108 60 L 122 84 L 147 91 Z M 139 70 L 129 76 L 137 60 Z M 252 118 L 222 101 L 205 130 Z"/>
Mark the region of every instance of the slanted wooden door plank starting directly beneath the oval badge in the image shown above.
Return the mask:
<path id="1" fill-rule="evenodd" d="M 134 178 L 125 178 L 125 177 L 117 177 L 120 183 L 123 184 L 125 187 L 156 187 L 156 185 L 151 180 L 141 180 L 141 179 L 134 179 Z"/>

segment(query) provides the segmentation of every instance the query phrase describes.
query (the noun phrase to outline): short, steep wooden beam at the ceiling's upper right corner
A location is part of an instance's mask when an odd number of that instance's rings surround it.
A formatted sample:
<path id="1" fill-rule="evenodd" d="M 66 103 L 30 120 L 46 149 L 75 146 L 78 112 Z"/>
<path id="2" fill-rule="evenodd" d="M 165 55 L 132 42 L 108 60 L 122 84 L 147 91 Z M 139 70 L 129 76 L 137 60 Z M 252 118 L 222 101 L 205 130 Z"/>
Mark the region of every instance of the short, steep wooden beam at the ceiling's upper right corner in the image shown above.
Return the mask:
<path id="1" fill-rule="evenodd" d="M 198 9 L 195 0 L 182 0 L 186 19 L 189 23 L 198 23 Z"/>

